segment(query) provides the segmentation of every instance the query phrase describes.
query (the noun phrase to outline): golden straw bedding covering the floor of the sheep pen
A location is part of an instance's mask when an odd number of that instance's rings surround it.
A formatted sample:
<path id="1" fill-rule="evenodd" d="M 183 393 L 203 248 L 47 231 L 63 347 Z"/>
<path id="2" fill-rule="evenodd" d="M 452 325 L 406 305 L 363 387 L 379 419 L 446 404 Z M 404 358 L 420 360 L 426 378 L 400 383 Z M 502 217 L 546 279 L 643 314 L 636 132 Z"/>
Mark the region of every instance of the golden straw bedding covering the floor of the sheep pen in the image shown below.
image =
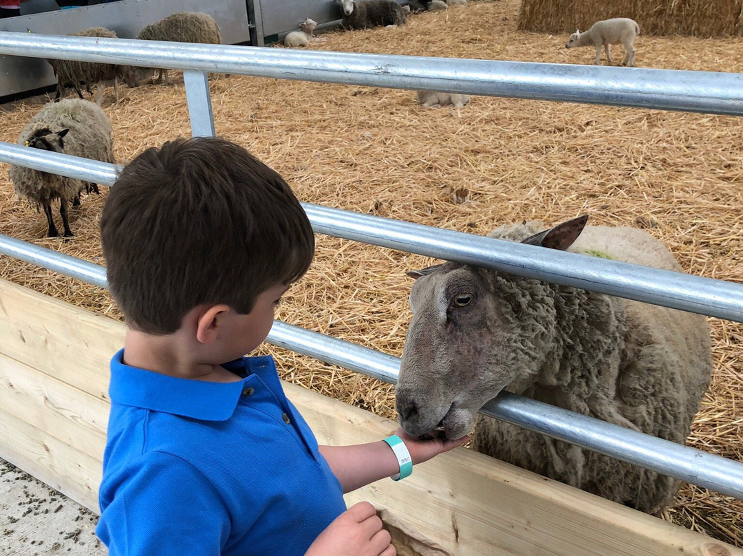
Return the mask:
<path id="1" fill-rule="evenodd" d="M 476 1 L 409 18 L 403 28 L 334 31 L 313 48 L 587 64 L 567 36 L 516 30 L 519 3 Z M 631 15 L 631 14 L 629 14 Z M 743 71 L 739 38 L 641 36 L 637 65 Z M 619 57 L 619 56 L 617 56 Z M 424 109 L 415 93 L 244 76 L 211 82 L 218 135 L 276 169 L 302 201 L 484 235 L 504 222 L 649 230 L 692 274 L 738 282 L 743 271 L 743 127 L 734 117 L 473 97 L 464 109 Z M 104 108 L 117 160 L 189 135 L 182 80 L 127 91 Z M 15 141 L 41 108 L 5 106 L 0 140 Z M 97 223 L 106 190 L 71 216 L 70 241 L 46 239 L 45 219 L 14 198 L 0 170 L 0 233 L 103 264 Z M 431 259 L 318 236 L 317 257 L 277 317 L 400 355 L 410 313 L 405 271 Z M 0 276 L 100 314 L 120 317 L 105 291 L 0 257 Z M 690 445 L 743 460 L 743 326 L 710 319 L 713 385 Z M 363 375 L 266 346 L 283 378 L 395 418 L 394 389 Z M 743 546 L 743 502 L 684 485 L 663 519 Z"/>

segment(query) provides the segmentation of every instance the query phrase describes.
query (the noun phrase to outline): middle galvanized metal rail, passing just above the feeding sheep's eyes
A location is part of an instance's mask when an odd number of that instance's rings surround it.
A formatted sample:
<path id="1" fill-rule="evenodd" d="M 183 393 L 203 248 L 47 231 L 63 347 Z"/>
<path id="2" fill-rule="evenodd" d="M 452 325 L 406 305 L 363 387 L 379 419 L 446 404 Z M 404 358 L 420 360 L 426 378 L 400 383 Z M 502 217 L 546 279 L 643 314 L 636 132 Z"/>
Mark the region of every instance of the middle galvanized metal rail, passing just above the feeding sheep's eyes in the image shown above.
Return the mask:
<path id="1" fill-rule="evenodd" d="M 68 161 L 67 159 L 74 159 Z M 111 185 L 116 167 L 0 142 L 0 161 Z M 83 171 L 76 172 L 75 164 Z M 317 233 L 743 322 L 743 285 L 303 203 Z M 402 273 L 403 270 L 400 269 Z"/>

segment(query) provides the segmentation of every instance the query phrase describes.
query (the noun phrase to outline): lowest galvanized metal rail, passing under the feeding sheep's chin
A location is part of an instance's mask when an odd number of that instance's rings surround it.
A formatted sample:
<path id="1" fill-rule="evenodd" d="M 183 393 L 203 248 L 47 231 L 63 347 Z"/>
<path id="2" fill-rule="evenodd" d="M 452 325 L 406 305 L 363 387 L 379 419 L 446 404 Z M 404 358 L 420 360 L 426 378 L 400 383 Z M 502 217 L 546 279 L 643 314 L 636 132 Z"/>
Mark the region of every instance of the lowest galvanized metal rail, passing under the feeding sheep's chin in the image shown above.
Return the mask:
<path id="1" fill-rule="evenodd" d="M 0 235 L 0 254 L 33 262 L 102 288 L 107 287 L 106 268 L 51 249 Z M 382 381 L 392 384 L 398 381 L 399 358 L 300 326 L 274 320 L 267 341 L 274 346 L 362 372 Z M 508 392 L 501 392 L 497 398 L 485 404 L 483 412 L 529 430 L 743 499 L 743 463 L 732 459 Z"/>

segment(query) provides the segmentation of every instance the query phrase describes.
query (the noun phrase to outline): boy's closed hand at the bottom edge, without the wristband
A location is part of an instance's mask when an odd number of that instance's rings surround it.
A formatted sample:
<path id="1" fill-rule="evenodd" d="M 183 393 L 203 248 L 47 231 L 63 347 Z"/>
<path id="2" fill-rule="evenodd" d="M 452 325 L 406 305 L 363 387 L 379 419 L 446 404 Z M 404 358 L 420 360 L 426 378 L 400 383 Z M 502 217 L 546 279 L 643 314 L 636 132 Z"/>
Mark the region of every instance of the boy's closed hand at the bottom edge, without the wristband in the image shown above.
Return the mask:
<path id="1" fill-rule="evenodd" d="M 325 528 L 305 556 L 397 556 L 369 502 L 358 502 Z"/>

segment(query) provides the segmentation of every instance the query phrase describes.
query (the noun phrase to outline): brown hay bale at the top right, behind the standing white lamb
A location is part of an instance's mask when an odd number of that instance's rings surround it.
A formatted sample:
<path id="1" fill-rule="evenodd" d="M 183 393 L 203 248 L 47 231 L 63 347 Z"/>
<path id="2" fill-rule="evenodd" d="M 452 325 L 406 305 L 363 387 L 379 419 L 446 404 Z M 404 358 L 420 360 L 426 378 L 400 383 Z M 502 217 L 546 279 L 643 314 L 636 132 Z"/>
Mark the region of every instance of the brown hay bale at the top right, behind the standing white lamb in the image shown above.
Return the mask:
<path id="1" fill-rule="evenodd" d="M 523 0 L 517 25 L 572 33 L 612 17 L 635 19 L 643 35 L 737 36 L 743 33 L 743 0 Z"/>

